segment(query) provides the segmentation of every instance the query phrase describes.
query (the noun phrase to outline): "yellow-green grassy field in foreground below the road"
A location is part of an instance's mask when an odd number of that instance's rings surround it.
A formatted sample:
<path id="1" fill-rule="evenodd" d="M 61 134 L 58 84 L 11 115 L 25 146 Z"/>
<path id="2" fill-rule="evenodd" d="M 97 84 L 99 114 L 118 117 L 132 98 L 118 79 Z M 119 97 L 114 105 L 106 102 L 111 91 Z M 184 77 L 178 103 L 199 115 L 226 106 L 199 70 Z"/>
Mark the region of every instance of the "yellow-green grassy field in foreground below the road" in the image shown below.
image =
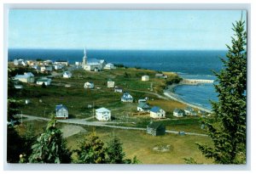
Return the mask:
<path id="1" fill-rule="evenodd" d="M 35 133 L 43 132 L 47 122 L 46 121 L 25 121 L 20 130 L 23 130 L 32 125 L 37 130 Z M 66 126 L 66 124 L 58 123 L 57 126 Z M 25 127 L 25 128 L 24 128 Z M 106 127 L 92 127 L 82 126 L 84 132 L 79 132 L 67 139 L 67 147 L 69 149 L 78 149 L 79 142 L 88 136 L 93 130 L 103 142 L 108 142 L 113 134 L 120 138 L 123 143 L 123 149 L 126 158 L 132 159 L 135 155 L 137 159 L 143 164 L 185 164 L 184 158 L 193 157 L 197 162 L 204 164 L 212 164 L 212 160 L 206 159 L 202 156 L 199 149 L 197 149 L 195 142 L 209 144 L 209 138 L 201 136 L 179 136 L 176 134 L 166 134 L 165 136 L 154 137 L 146 134 L 143 131 L 121 130 Z M 156 148 L 166 148 L 164 151 L 156 151 Z M 75 156 L 73 155 L 73 158 Z"/>

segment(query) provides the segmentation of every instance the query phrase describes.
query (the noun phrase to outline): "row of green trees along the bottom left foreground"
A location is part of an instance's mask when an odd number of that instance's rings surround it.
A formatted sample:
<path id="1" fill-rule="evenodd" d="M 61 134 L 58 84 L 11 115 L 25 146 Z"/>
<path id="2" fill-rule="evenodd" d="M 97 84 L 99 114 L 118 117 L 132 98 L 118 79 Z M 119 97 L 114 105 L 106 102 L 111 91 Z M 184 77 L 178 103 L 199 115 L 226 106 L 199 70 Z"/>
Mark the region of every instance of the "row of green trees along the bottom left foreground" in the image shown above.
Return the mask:
<path id="1" fill-rule="evenodd" d="M 126 159 L 122 143 L 113 136 L 104 143 L 96 132 L 90 133 L 79 144 L 79 149 L 67 148 L 67 140 L 56 127 L 57 121 L 52 116 L 43 133 L 36 137 L 27 129 L 24 135 L 8 126 L 7 161 L 9 163 L 56 163 L 56 164 L 138 164 L 135 156 Z"/>

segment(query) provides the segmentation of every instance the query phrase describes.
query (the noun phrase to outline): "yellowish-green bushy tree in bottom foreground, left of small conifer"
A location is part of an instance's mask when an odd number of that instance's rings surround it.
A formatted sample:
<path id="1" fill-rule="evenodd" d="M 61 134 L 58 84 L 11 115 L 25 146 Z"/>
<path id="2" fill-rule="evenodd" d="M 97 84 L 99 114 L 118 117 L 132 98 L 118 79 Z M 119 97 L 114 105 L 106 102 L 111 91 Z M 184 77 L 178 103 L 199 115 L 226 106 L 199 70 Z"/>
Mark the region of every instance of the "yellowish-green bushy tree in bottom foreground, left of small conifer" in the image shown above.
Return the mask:
<path id="1" fill-rule="evenodd" d="M 102 140 L 92 132 L 88 139 L 80 144 L 80 148 L 75 150 L 78 154 L 77 163 L 80 164 L 105 164 L 107 162 L 105 147 Z"/>

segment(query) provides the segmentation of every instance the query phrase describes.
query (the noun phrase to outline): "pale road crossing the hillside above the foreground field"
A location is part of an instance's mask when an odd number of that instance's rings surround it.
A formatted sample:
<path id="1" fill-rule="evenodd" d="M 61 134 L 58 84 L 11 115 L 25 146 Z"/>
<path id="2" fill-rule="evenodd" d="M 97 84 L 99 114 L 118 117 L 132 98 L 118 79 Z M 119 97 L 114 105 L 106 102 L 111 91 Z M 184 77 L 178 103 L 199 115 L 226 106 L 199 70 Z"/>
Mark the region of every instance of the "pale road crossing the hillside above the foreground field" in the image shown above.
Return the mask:
<path id="1" fill-rule="evenodd" d="M 21 116 L 21 115 L 18 115 Z M 22 115 L 23 117 L 26 117 L 26 120 L 24 121 L 33 121 L 33 120 L 39 120 L 39 121 L 49 121 L 49 118 L 43 118 L 39 116 L 32 116 L 32 115 Z M 76 125 L 83 125 L 83 126 L 104 126 L 104 127 L 111 127 L 111 128 L 117 128 L 117 129 L 125 129 L 125 130 L 139 130 L 139 131 L 146 131 L 146 128 L 140 128 L 140 127 L 129 127 L 129 126 L 113 126 L 113 125 L 107 125 L 109 121 L 86 121 L 85 119 L 67 119 L 67 120 L 58 120 L 58 122 L 62 123 L 68 123 L 68 124 L 76 124 Z M 117 123 L 117 122 L 116 122 Z M 170 131 L 166 130 L 167 133 L 174 133 L 178 134 L 177 131 Z M 207 137 L 207 134 L 201 134 L 201 133 L 194 133 L 194 132 L 185 132 L 186 135 L 195 135 L 195 136 L 204 136 Z"/>

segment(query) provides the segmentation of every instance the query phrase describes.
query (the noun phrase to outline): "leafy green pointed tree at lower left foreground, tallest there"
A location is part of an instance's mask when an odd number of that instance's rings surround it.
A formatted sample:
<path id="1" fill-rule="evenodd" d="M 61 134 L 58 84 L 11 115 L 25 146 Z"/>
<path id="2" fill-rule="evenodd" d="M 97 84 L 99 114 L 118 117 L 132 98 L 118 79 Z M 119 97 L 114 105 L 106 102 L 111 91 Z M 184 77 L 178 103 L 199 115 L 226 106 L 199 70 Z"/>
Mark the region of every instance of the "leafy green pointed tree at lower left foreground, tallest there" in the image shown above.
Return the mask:
<path id="1" fill-rule="evenodd" d="M 67 143 L 62 138 L 62 132 L 56 127 L 54 115 L 49 121 L 45 132 L 32 145 L 32 154 L 29 157 L 31 163 L 70 163 L 71 152 L 67 149 Z"/>

